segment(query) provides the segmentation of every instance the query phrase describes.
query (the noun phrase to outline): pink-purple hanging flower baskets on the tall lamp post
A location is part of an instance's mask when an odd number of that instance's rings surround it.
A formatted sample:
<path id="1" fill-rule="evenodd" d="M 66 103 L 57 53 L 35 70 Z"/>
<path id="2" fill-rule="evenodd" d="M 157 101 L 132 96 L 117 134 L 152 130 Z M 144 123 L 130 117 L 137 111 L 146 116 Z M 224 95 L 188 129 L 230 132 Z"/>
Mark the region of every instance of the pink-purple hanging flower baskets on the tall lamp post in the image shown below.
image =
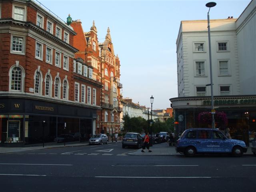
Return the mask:
<path id="1" fill-rule="evenodd" d="M 224 112 L 216 112 L 214 115 L 216 124 L 218 125 L 227 125 L 228 118 Z M 198 121 L 201 124 L 212 124 L 212 114 L 211 112 L 201 112 L 198 114 Z"/>

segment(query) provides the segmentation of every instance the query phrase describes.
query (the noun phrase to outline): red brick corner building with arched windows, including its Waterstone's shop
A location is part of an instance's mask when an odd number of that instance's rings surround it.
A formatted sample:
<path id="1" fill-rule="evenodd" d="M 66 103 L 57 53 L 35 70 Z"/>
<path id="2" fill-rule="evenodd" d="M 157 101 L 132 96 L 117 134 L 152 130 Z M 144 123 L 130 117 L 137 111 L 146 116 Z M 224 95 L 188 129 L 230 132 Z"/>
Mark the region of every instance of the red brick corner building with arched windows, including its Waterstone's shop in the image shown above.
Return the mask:
<path id="1" fill-rule="evenodd" d="M 75 35 L 34 1 L 0 0 L 0 144 L 86 141 L 96 132 L 101 68 L 74 59 Z"/>

